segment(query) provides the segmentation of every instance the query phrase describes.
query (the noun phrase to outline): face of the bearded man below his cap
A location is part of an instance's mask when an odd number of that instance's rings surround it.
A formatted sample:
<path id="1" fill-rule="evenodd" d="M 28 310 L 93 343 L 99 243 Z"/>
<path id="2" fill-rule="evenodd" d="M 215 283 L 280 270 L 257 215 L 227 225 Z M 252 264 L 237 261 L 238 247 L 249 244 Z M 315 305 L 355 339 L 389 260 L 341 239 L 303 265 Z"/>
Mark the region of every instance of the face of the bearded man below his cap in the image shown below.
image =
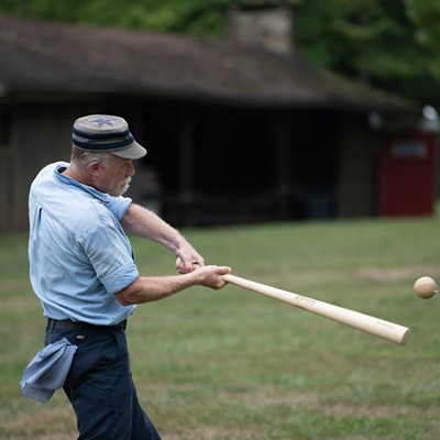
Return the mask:
<path id="1" fill-rule="evenodd" d="M 134 174 L 133 161 L 110 155 L 95 177 L 96 188 L 110 196 L 122 196 L 129 189 Z"/>

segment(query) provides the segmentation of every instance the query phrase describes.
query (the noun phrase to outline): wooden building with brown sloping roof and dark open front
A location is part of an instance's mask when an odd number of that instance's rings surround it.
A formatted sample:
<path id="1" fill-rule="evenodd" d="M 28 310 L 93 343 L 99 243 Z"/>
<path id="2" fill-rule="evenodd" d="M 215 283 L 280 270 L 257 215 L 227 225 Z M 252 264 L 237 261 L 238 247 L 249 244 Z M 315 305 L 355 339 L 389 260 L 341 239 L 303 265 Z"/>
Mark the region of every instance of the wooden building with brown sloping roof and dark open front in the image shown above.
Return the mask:
<path id="1" fill-rule="evenodd" d="M 0 229 L 89 113 L 129 121 L 131 196 L 173 224 L 381 215 L 383 129 L 419 109 L 277 47 L 0 16 Z"/>

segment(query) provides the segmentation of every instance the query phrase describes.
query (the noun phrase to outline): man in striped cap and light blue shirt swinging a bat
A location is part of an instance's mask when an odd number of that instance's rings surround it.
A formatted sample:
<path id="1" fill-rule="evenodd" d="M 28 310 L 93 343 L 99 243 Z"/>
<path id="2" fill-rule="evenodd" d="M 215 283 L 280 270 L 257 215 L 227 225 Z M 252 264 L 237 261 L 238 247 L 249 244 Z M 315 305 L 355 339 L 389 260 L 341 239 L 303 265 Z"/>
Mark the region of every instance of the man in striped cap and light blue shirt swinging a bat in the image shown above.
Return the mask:
<path id="1" fill-rule="evenodd" d="M 135 305 L 190 286 L 224 286 L 202 256 L 153 212 L 122 197 L 146 154 L 122 118 L 75 121 L 72 158 L 43 168 L 30 191 L 31 283 L 47 317 L 45 345 L 77 346 L 64 391 L 80 440 L 160 439 L 131 380 L 124 329 Z M 182 275 L 140 276 L 125 232 L 180 257 Z M 193 271 L 193 265 L 201 266 Z M 54 345 L 52 345 L 54 346 Z"/>

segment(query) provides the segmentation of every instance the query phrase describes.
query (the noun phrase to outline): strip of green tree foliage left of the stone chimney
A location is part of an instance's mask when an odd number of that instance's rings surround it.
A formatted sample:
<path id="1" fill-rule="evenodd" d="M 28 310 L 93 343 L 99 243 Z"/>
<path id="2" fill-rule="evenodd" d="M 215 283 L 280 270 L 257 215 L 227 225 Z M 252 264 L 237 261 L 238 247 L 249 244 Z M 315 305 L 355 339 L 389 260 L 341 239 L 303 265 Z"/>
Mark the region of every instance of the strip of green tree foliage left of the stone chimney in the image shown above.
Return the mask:
<path id="1" fill-rule="evenodd" d="M 0 0 L 21 16 L 221 37 L 233 0 Z"/>

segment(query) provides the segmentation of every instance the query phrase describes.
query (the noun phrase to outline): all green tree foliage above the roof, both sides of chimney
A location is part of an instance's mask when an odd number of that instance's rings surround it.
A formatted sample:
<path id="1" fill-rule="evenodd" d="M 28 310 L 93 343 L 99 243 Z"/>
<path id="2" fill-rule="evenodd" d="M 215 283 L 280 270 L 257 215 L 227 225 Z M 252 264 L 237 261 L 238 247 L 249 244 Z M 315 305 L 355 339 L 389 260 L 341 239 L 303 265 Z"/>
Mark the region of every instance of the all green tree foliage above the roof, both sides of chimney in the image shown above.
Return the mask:
<path id="1" fill-rule="evenodd" d="M 279 3 L 280 0 L 244 0 Z M 440 0 L 285 0 L 297 53 L 309 62 L 440 107 Z M 0 0 L 36 19 L 222 38 L 243 0 Z"/>

